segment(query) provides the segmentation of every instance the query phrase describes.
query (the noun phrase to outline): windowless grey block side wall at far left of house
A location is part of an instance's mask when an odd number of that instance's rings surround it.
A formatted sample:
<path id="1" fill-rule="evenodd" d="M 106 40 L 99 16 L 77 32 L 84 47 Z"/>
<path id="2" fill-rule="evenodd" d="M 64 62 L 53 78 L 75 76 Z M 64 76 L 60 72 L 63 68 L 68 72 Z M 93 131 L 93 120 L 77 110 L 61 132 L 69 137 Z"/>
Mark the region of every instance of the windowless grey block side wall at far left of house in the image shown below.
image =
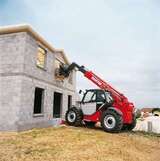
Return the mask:
<path id="1" fill-rule="evenodd" d="M 0 130 L 17 130 L 25 33 L 0 35 Z"/>

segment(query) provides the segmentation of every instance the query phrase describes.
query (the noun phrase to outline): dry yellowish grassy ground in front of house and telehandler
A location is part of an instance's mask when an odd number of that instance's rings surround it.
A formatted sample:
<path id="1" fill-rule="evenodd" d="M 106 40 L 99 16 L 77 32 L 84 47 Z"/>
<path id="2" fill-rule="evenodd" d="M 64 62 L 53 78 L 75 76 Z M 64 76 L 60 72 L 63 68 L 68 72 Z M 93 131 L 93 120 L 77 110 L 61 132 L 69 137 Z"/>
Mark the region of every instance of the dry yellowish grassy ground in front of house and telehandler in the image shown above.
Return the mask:
<path id="1" fill-rule="evenodd" d="M 0 133 L 0 161 L 159 161 L 160 136 L 59 127 Z"/>

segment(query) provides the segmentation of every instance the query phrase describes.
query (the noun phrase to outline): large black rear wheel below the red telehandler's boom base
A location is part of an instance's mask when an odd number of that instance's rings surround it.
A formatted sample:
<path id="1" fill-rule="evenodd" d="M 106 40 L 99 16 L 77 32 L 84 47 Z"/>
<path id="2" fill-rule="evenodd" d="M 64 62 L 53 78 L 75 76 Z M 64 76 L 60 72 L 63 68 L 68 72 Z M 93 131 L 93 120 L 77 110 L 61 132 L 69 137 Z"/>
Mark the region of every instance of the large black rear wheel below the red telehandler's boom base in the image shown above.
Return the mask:
<path id="1" fill-rule="evenodd" d="M 123 127 L 123 118 L 114 110 L 107 110 L 102 114 L 101 126 L 106 132 L 120 132 Z"/>

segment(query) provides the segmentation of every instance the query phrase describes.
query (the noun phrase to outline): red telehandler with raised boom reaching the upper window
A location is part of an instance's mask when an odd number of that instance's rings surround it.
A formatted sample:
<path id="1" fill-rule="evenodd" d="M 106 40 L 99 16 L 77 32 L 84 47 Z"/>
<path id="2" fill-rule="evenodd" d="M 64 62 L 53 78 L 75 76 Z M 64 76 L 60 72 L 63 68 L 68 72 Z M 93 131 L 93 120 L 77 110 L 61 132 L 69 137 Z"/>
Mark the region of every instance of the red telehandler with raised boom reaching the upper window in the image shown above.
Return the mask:
<path id="1" fill-rule="evenodd" d="M 66 78 L 74 69 L 82 72 L 100 89 L 86 90 L 79 105 L 68 109 L 65 115 L 67 124 L 80 126 L 84 123 L 92 127 L 100 122 L 103 130 L 107 132 L 132 130 L 136 125 L 133 103 L 84 66 L 76 63 L 61 65 L 58 74 Z"/>

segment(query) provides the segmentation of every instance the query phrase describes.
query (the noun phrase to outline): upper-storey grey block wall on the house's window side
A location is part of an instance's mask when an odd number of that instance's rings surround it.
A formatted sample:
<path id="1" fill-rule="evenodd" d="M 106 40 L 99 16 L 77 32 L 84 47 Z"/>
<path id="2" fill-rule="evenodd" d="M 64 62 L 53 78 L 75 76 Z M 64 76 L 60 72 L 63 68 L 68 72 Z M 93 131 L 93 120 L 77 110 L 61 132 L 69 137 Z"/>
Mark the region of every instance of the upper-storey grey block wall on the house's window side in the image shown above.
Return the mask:
<path id="1" fill-rule="evenodd" d="M 45 69 L 38 68 L 36 66 L 36 58 L 38 52 L 38 46 L 43 47 L 47 51 L 46 67 Z M 26 33 L 26 43 L 24 52 L 24 73 L 28 76 L 34 77 L 46 83 L 59 86 L 60 88 L 67 88 L 68 90 L 75 90 L 76 77 L 73 72 L 73 83 L 69 83 L 66 79 L 63 82 L 57 81 L 55 78 L 55 59 L 57 52 L 51 52 L 41 43 L 37 42 L 30 34 Z"/>

